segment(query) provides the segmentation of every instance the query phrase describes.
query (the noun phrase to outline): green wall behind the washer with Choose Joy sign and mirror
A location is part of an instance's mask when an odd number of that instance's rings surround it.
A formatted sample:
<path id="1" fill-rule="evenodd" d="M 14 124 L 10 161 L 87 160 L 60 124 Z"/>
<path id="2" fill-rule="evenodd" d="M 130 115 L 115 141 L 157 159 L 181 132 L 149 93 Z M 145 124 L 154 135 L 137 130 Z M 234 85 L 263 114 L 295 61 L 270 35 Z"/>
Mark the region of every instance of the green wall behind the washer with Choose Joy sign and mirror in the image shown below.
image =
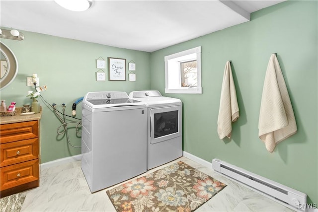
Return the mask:
<path id="1" fill-rule="evenodd" d="M 1 89 L 1 100 L 9 104 L 15 101 L 18 107 L 31 103 L 26 97 L 32 87 L 26 86 L 26 77 L 37 73 L 40 85 L 47 85 L 47 91 L 41 94 L 47 102 L 65 103 L 66 113 L 72 114 L 72 105 L 89 91 L 125 91 L 150 89 L 150 53 L 114 48 L 100 44 L 65 39 L 44 34 L 22 31 L 23 41 L 1 39 L 15 54 L 19 71 L 15 80 Z M 96 81 L 95 60 L 102 57 L 124 58 L 126 63 L 133 60 L 136 63 L 136 81 L 108 81 L 107 69 L 105 81 Z M 129 71 L 126 71 L 128 77 Z M 42 100 L 41 119 L 41 163 L 55 159 L 80 154 L 80 148 L 67 144 L 66 136 L 57 135 L 56 129 L 61 122 Z M 81 103 L 77 106 L 77 118 L 81 118 Z M 69 121 L 77 121 L 68 118 Z M 80 137 L 76 136 L 76 124 L 70 124 L 69 135 L 72 144 L 80 146 Z M 61 128 L 62 129 L 62 128 Z M 80 136 L 80 135 L 79 135 Z"/>

